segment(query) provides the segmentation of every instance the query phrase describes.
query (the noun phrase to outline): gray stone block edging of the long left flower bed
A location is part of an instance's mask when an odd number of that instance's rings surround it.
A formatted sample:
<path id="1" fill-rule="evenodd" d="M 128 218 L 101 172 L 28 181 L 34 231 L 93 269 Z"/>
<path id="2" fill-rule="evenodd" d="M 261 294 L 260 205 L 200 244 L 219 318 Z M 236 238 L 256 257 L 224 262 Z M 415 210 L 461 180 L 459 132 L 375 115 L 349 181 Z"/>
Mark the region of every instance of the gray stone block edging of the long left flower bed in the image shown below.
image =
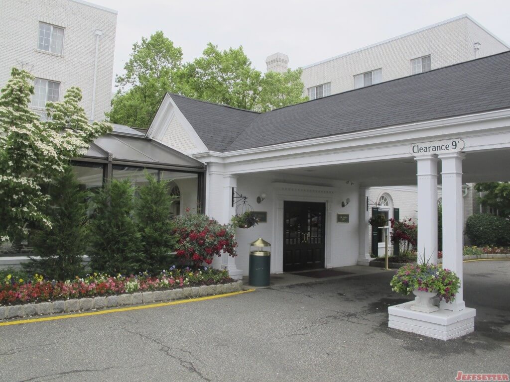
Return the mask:
<path id="1" fill-rule="evenodd" d="M 0 306 L 0 320 L 44 315 L 52 313 L 70 313 L 93 309 L 113 308 L 125 305 L 148 304 L 171 301 L 182 298 L 201 297 L 212 294 L 223 294 L 242 290 L 243 282 L 229 284 L 202 285 L 151 292 L 123 293 L 110 296 L 73 298 L 64 301 L 53 301 L 37 304 Z"/>

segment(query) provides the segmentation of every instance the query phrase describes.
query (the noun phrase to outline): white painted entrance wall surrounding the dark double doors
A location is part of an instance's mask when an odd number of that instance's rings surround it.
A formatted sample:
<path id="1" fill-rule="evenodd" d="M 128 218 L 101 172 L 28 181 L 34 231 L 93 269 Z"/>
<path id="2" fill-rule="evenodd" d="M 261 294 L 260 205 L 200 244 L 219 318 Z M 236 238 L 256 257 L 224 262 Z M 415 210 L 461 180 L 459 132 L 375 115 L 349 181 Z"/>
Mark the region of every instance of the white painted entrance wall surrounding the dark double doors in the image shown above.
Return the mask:
<path id="1" fill-rule="evenodd" d="M 288 184 L 282 190 L 282 183 Z M 303 184 L 304 183 L 304 184 Z M 309 183 L 307 185 L 307 183 Z M 321 184 L 321 186 L 310 185 Z M 282 272 L 283 267 L 283 201 L 310 201 L 326 203 L 326 267 L 355 265 L 358 260 L 358 185 L 345 181 L 305 179 L 292 176 L 241 175 L 237 180 L 237 190 L 248 197 L 248 203 L 255 211 L 267 212 L 267 223 L 248 229 L 237 229 L 238 256 L 237 268 L 248 274 L 248 244 L 259 237 L 272 244 L 271 272 Z M 257 204 L 257 196 L 267 194 L 267 198 Z M 342 207 L 347 198 L 350 203 Z M 336 223 L 337 213 L 348 213 L 349 223 Z"/>

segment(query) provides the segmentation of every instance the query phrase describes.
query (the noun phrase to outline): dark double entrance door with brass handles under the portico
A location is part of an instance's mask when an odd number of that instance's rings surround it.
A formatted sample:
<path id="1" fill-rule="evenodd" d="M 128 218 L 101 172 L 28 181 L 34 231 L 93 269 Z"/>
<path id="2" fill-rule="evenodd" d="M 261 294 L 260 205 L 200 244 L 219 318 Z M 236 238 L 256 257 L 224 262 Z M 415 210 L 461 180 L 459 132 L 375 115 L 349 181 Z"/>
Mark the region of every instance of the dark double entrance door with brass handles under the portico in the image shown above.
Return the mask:
<path id="1" fill-rule="evenodd" d="M 284 202 L 284 272 L 324 268 L 325 203 Z"/>

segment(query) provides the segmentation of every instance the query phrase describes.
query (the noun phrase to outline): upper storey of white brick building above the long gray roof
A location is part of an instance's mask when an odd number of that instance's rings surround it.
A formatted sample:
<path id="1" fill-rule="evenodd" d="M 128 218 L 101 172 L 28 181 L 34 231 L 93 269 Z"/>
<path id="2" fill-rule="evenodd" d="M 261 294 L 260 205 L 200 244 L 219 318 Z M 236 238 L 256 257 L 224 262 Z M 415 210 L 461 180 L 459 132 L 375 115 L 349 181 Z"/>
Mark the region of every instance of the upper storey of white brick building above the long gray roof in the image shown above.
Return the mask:
<path id="1" fill-rule="evenodd" d="M 303 92 L 320 98 L 508 49 L 465 14 L 304 66 Z"/>

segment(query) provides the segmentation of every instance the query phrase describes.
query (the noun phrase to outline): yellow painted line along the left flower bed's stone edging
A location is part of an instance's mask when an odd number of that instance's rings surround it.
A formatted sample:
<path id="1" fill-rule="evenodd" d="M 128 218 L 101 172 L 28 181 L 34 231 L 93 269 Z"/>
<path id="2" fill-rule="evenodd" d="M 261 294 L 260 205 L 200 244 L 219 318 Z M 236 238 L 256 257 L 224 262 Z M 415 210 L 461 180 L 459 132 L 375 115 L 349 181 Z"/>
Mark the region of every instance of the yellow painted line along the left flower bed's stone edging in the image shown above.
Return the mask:
<path id="1" fill-rule="evenodd" d="M 167 302 L 167 303 L 158 303 L 158 304 L 149 304 L 149 305 L 138 305 L 136 307 L 116 308 L 116 309 L 109 309 L 109 310 L 99 310 L 99 311 L 96 311 L 96 312 L 64 314 L 64 315 L 60 315 L 60 316 L 47 316 L 47 317 L 40 317 L 40 318 L 29 318 L 29 319 L 25 319 L 25 320 L 22 319 L 22 320 L 16 320 L 16 321 L 0 322 L 0 326 L 19 325 L 19 324 L 22 324 L 22 323 L 32 323 L 32 322 L 41 322 L 41 321 L 53 321 L 53 320 L 61 320 L 61 319 L 64 319 L 64 318 L 77 318 L 77 317 L 86 317 L 86 316 L 96 316 L 98 314 L 109 314 L 109 313 L 117 313 L 117 312 L 127 312 L 127 311 L 130 311 L 130 310 L 140 310 L 140 309 L 148 309 L 148 308 L 166 307 L 166 306 L 169 306 L 169 305 L 179 305 L 179 304 L 186 304 L 186 303 L 194 303 L 195 301 L 206 301 L 206 300 L 211 300 L 211 299 L 214 299 L 214 298 L 235 296 L 237 294 L 253 292 L 254 290 L 255 289 L 241 290 L 239 292 L 231 292 L 231 293 L 225 293 L 225 294 L 217 294 L 217 295 L 213 295 L 213 296 L 190 298 L 190 299 L 186 299 L 186 300 L 170 301 L 170 302 Z"/>

